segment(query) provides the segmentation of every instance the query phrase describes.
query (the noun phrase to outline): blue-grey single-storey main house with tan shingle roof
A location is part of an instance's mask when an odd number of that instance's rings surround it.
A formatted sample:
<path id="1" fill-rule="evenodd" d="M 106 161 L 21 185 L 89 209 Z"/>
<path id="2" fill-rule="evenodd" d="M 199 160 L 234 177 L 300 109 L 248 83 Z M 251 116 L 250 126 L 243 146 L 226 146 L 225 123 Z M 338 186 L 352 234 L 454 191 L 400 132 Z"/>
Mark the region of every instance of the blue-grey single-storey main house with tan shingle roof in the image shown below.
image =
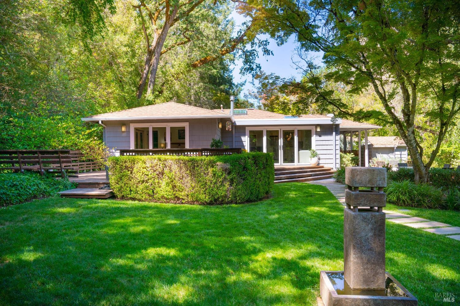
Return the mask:
<path id="1" fill-rule="evenodd" d="M 380 128 L 374 124 L 334 118 L 298 117 L 259 109 L 208 110 L 175 102 L 142 106 L 82 118 L 104 127 L 104 142 L 112 155 L 129 149 L 209 148 L 211 140 L 225 146 L 273 153 L 276 165 L 308 165 L 310 150 L 320 164 L 340 165 L 339 134 Z M 367 158 L 368 160 L 368 158 Z"/>

